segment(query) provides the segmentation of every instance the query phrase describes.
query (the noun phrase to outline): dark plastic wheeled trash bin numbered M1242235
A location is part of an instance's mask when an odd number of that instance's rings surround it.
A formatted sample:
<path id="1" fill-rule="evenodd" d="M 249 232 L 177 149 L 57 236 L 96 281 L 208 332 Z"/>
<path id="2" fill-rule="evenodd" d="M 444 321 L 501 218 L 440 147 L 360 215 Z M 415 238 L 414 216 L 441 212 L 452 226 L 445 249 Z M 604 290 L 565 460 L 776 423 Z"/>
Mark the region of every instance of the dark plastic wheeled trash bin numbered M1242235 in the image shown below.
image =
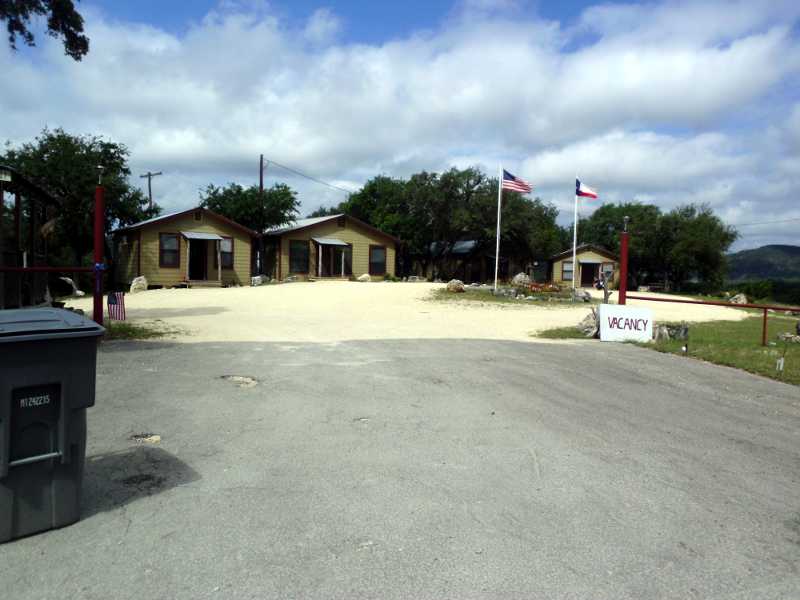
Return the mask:
<path id="1" fill-rule="evenodd" d="M 104 332 L 67 310 L 0 311 L 0 543 L 80 517 Z"/>

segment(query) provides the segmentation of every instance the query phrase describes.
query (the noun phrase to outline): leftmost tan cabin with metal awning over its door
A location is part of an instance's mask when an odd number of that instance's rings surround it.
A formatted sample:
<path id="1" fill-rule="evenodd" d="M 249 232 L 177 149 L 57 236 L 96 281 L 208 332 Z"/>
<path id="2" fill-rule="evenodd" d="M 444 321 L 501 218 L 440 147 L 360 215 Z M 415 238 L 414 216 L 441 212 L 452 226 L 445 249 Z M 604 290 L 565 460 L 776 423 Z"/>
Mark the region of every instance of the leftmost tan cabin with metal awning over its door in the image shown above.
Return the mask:
<path id="1" fill-rule="evenodd" d="M 149 286 L 249 285 L 258 234 L 206 208 L 148 219 L 114 232 L 115 280 Z"/>

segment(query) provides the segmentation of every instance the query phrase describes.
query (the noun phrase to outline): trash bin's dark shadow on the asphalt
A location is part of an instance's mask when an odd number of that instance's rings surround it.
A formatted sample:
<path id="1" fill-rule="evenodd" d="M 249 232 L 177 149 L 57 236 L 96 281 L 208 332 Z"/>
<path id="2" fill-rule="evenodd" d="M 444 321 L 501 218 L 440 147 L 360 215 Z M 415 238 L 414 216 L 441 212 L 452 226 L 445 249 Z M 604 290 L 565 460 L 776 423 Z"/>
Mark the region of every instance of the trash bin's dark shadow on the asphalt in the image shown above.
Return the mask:
<path id="1" fill-rule="evenodd" d="M 200 479 L 166 450 L 135 446 L 86 457 L 82 517 L 114 510 L 137 498 L 153 496 Z"/>

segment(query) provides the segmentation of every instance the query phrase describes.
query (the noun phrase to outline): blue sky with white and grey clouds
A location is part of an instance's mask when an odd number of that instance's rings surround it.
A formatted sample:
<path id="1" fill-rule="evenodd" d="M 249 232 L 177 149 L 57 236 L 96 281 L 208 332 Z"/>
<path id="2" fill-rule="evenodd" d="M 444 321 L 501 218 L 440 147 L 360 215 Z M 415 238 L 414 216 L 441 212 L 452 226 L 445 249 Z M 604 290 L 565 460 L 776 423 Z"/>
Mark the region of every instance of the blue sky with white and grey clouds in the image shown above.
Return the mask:
<path id="1" fill-rule="evenodd" d="M 0 44 L 0 139 L 44 127 L 130 150 L 165 210 L 258 158 L 345 189 L 502 164 L 572 221 L 602 202 L 707 203 L 734 249 L 800 243 L 795 0 L 84 0 L 90 52 Z M 346 194 L 268 163 L 302 214 Z"/>

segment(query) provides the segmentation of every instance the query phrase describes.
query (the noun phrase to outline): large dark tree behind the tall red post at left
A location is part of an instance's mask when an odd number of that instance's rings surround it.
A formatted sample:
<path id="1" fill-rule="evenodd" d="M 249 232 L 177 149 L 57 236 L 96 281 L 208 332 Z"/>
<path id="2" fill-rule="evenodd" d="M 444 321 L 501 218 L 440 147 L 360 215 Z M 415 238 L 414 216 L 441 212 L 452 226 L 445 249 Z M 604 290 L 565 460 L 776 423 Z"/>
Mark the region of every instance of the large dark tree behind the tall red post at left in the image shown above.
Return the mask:
<path id="1" fill-rule="evenodd" d="M 45 129 L 35 141 L 19 148 L 7 146 L 0 163 L 18 169 L 25 177 L 50 190 L 61 202 L 51 248 L 70 248 L 73 264 L 91 251 L 94 231 L 94 190 L 98 165 L 105 167 L 105 231 L 156 216 L 147 197 L 128 182 L 128 149 L 122 144 L 91 135 L 70 135 L 62 129 Z"/>

